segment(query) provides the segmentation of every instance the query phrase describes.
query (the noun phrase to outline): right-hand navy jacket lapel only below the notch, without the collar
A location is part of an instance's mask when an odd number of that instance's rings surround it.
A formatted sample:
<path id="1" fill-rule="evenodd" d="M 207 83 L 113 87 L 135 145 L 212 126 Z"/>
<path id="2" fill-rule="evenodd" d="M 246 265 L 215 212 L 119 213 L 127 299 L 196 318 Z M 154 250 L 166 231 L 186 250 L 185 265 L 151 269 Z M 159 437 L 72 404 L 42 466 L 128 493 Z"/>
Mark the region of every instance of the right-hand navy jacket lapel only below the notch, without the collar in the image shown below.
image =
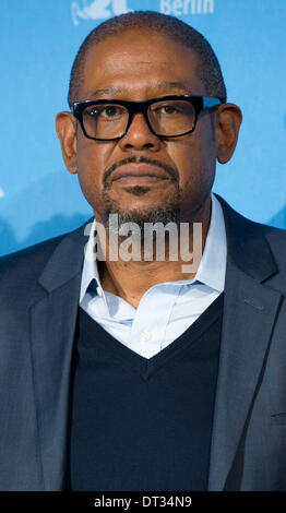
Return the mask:
<path id="1" fill-rule="evenodd" d="M 229 264 L 213 441 L 210 490 L 223 490 L 263 372 L 281 294 Z M 239 482 L 238 482 L 239 486 Z"/>

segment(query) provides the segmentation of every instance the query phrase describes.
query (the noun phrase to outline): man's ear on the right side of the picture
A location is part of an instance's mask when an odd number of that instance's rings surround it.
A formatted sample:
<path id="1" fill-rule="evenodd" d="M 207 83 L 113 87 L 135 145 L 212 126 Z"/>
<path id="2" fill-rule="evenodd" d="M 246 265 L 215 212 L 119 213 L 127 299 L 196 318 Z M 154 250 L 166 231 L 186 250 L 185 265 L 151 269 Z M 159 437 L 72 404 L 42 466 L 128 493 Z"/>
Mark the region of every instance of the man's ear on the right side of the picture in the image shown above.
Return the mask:
<path id="1" fill-rule="evenodd" d="M 215 112 L 216 151 L 221 164 L 226 164 L 234 154 L 241 121 L 242 112 L 235 104 L 222 104 Z"/>

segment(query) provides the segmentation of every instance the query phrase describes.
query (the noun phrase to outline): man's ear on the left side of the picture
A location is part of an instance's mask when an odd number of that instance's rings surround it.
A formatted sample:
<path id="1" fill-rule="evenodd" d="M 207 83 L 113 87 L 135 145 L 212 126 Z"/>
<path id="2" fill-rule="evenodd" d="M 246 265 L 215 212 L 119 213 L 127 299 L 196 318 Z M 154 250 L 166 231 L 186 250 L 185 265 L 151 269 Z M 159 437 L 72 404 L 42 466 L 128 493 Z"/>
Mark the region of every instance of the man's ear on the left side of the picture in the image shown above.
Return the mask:
<path id="1" fill-rule="evenodd" d="M 56 117 L 56 130 L 60 140 L 64 164 L 70 172 L 78 172 L 76 165 L 76 120 L 71 112 L 59 112 Z"/>

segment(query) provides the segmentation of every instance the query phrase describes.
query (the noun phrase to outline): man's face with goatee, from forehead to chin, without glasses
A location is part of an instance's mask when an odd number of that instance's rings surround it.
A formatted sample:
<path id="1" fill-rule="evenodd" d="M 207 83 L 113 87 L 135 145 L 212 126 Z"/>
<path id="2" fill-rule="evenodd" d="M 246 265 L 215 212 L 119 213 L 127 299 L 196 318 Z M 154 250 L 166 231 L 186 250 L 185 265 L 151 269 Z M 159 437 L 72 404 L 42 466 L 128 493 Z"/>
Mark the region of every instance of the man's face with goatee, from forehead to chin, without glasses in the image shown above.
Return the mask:
<path id="1" fill-rule="evenodd" d="M 143 102 L 166 95 L 205 95 L 196 67 L 196 55 L 171 38 L 129 29 L 88 51 L 76 100 Z M 142 114 L 134 115 L 119 141 L 90 140 L 78 123 L 74 147 L 82 191 L 103 223 L 110 212 L 121 214 L 122 219 L 163 220 L 160 214 L 164 217 L 166 210 L 177 211 L 177 220 L 187 222 L 210 196 L 216 164 L 210 112 L 201 112 L 195 130 L 177 139 L 154 135 Z M 119 169 L 133 174 L 159 169 L 165 176 L 116 180 Z"/>

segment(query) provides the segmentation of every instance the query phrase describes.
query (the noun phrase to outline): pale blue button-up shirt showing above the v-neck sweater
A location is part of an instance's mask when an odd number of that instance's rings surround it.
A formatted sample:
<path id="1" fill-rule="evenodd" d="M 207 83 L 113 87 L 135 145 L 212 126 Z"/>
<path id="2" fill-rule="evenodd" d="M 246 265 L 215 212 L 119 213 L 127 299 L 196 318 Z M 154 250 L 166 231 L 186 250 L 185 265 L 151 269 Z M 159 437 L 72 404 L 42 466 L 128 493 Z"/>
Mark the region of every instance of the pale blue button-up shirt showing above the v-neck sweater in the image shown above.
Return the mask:
<path id="1" fill-rule="evenodd" d="M 148 288 L 138 308 L 103 289 L 92 258 L 96 228 L 86 246 L 80 306 L 129 349 L 152 358 L 180 336 L 224 290 L 226 232 L 222 206 L 212 194 L 212 216 L 203 255 L 193 279 L 164 282 Z"/>

